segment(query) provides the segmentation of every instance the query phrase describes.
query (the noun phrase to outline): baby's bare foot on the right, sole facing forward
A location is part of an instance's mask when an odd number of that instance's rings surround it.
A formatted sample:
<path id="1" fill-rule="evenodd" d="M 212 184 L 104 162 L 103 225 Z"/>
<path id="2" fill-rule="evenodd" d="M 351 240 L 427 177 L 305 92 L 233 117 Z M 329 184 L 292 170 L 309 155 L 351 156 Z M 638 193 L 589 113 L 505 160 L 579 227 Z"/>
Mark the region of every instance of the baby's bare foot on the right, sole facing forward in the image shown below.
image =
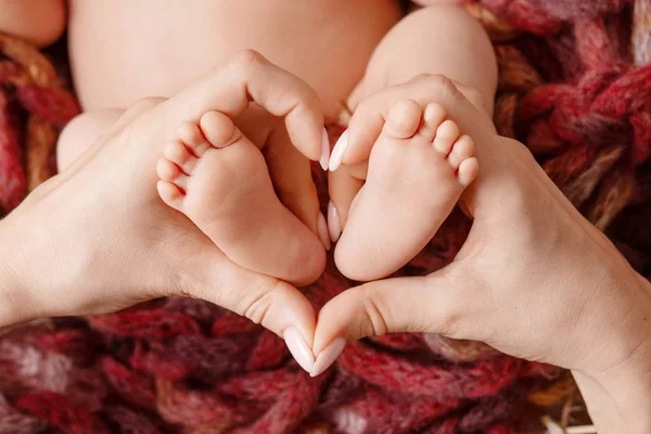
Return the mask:
<path id="1" fill-rule="evenodd" d="M 407 264 L 475 179 L 474 142 L 445 117 L 442 106 L 423 112 L 411 100 L 388 113 L 336 246 L 336 266 L 346 277 L 375 280 Z"/>

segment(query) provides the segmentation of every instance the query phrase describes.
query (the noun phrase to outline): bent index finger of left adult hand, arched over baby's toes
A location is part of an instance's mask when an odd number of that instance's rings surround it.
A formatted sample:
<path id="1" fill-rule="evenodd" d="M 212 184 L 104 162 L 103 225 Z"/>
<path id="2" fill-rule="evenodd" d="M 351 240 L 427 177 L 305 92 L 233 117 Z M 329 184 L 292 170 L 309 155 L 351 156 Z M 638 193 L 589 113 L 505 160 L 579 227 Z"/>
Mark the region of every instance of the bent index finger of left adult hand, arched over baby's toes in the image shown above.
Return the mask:
<path id="1" fill-rule="evenodd" d="M 162 104 L 162 110 L 176 126 L 179 116 L 199 122 L 209 111 L 235 118 L 244 113 L 251 101 L 272 115 L 283 117 L 292 143 L 308 158 L 327 164 L 330 144 L 323 129 L 319 97 L 305 81 L 252 50 L 243 51 L 213 69 Z"/>

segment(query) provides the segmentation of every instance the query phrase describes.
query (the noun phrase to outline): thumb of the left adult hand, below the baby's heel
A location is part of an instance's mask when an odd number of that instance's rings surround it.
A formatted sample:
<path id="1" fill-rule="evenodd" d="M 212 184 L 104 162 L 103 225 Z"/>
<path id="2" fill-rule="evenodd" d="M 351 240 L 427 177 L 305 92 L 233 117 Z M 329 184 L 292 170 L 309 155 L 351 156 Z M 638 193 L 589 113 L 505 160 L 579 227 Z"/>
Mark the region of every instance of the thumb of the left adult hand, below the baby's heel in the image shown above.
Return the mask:
<path id="1" fill-rule="evenodd" d="M 301 367 L 311 370 L 316 315 L 303 293 L 286 282 L 239 267 L 221 253 L 207 257 L 205 269 L 204 284 L 193 284 L 184 293 L 222 306 L 275 332 L 285 340 Z"/>

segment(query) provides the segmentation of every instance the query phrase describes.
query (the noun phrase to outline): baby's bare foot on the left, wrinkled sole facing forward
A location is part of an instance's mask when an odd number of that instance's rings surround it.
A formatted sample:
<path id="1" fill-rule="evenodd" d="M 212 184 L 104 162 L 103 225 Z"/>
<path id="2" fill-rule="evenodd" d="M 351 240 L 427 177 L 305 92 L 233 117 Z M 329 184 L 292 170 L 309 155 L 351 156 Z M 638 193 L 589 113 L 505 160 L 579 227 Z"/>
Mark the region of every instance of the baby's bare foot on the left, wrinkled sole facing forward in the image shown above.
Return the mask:
<path id="1" fill-rule="evenodd" d="M 244 268 L 297 285 L 318 276 L 323 245 L 280 203 L 263 154 L 228 116 L 208 112 L 177 136 L 156 165 L 167 205 Z"/>

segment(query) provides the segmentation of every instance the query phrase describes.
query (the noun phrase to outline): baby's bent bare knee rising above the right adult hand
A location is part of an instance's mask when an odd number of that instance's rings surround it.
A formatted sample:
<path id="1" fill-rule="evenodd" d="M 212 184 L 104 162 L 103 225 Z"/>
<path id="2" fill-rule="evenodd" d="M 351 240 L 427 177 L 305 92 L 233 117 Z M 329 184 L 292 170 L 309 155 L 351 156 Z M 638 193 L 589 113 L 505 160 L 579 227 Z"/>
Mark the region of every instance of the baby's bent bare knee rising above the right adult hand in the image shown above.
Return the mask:
<path id="1" fill-rule="evenodd" d="M 482 106 L 493 115 L 497 61 L 482 24 L 460 8 L 419 9 L 396 24 L 375 49 L 363 80 L 348 101 L 365 97 L 420 74 L 441 74 L 478 91 Z M 480 103 L 477 99 L 471 102 Z"/>

